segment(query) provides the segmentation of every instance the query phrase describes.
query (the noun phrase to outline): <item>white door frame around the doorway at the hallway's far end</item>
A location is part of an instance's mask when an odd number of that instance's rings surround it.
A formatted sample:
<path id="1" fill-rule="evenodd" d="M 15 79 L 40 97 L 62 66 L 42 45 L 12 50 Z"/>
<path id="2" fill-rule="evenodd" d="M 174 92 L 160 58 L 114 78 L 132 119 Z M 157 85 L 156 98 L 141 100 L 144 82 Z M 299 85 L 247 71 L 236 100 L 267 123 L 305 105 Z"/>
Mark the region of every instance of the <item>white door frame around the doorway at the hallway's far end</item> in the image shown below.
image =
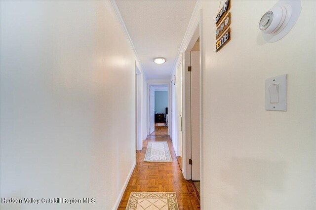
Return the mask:
<path id="1" fill-rule="evenodd" d="M 171 123 L 171 117 L 170 113 L 170 81 L 168 80 L 147 80 L 147 129 L 148 134 L 150 135 L 150 86 L 151 85 L 167 85 L 168 87 L 168 135 L 170 135 L 170 123 Z"/>

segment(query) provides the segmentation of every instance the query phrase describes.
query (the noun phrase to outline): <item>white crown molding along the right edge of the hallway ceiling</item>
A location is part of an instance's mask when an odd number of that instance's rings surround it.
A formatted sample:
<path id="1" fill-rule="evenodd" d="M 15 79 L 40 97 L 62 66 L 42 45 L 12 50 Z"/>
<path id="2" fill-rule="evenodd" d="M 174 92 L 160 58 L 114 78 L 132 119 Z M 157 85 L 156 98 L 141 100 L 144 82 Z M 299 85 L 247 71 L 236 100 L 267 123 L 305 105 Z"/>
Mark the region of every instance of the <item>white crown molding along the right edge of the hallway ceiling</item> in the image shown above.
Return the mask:
<path id="1" fill-rule="evenodd" d="M 170 78 L 173 74 L 173 72 L 175 71 L 176 67 L 178 67 L 180 65 L 180 62 L 182 60 L 182 52 L 186 51 L 188 48 L 188 45 L 191 41 L 192 36 L 194 35 L 197 26 L 199 24 L 199 19 L 200 19 L 200 0 L 197 0 L 196 5 L 193 9 L 190 21 L 189 21 L 189 25 L 187 27 L 187 31 L 182 39 L 178 54 L 177 54 L 177 60 L 173 63 L 173 67 L 172 67 L 172 71 L 170 74 Z M 172 79 L 172 78 L 171 78 Z"/>

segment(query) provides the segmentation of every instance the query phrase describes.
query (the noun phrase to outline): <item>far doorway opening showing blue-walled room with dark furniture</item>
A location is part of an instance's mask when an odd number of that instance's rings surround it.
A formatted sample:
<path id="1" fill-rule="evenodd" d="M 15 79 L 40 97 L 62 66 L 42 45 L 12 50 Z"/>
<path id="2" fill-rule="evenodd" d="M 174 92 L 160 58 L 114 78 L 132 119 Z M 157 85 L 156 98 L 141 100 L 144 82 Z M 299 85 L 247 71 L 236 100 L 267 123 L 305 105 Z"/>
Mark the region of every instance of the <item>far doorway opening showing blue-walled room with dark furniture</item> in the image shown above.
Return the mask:
<path id="1" fill-rule="evenodd" d="M 150 116 L 150 131 L 151 136 L 168 135 L 168 107 L 169 94 L 168 85 L 149 85 L 149 116 Z"/>

